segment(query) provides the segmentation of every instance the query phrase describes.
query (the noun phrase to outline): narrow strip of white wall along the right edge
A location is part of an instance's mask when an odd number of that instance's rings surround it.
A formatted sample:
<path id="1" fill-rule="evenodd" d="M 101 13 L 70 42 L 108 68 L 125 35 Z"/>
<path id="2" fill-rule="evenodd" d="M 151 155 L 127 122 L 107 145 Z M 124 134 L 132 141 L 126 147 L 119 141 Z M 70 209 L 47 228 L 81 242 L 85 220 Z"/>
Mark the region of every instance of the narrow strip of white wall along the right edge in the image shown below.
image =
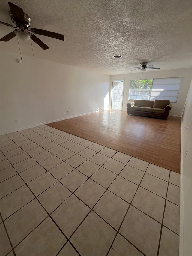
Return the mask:
<path id="1" fill-rule="evenodd" d="M 191 127 L 191 85 L 182 116 L 182 128 Z M 181 130 L 181 208 L 180 208 L 180 256 L 192 255 L 192 150 L 190 129 Z M 188 152 L 187 152 L 188 150 Z M 187 155 L 186 155 L 187 152 Z"/>

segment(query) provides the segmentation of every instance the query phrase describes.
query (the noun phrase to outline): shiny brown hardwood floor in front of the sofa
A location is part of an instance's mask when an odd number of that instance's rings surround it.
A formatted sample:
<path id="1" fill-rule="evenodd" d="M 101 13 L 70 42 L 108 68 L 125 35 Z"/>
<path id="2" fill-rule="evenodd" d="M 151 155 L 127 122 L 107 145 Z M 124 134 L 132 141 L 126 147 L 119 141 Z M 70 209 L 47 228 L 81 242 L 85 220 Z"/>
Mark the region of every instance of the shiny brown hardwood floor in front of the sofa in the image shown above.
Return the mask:
<path id="1" fill-rule="evenodd" d="M 107 110 L 48 125 L 180 173 L 178 117 L 162 120 Z"/>

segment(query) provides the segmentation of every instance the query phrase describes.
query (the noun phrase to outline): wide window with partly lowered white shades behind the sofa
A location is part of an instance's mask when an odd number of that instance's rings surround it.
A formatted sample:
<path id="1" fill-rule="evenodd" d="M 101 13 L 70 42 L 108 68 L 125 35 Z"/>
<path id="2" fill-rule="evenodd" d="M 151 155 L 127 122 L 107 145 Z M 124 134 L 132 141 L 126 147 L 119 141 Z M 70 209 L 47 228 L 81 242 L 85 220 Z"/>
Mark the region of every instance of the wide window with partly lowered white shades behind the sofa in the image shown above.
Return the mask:
<path id="1" fill-rule="evenodd" d="M 129 100 L 170 100 L 177 102 L 182 77 L 131 80 Z"/>

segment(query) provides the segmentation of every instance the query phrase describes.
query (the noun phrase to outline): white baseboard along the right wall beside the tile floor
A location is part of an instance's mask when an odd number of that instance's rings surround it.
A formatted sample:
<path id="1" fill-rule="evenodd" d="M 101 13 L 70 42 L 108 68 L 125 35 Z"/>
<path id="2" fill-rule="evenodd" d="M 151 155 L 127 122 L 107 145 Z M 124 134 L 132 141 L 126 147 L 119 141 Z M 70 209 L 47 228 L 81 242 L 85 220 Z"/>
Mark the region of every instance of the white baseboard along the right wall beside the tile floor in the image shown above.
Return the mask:
<path id="1" fill-rule="evenodd" d="M 181 120 L 182 127 L 182 120 Z M 179 256 L 184 255 L 184 207 L 183 207 L 183 154 L 182 154 L 182 132 L 181 132 L 181 170 L 180 170 L 180 219 L 179 219 Z"/>

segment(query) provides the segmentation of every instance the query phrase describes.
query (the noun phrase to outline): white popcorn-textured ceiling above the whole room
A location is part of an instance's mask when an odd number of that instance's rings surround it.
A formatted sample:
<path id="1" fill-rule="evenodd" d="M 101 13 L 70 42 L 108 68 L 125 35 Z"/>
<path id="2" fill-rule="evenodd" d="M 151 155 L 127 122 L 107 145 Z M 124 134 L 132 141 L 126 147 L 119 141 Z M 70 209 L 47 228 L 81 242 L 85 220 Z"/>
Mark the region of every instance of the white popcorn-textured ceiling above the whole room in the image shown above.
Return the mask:
<path id="1" fill-rule="evenodd" d="M 161 70 L 191 67 L 191 1 L 11 2 L 31 17 L 32 27 L 65 36 L 60 41 L 37 35 L 50 49 L 34 43 L 36 58 L 110 75 L 128 73 L 140 62 Z M 1 21 L 11 23 L 9 10 L 0 1 Z M 0 24 L 0 38 L 12 30 Z M 19 57 L 16 37 L 0 47 Z M 20 41 L 20 48 L 32 56 L 30 41 Z M 123 58 L 113 57 L 118 54 Z"/>

